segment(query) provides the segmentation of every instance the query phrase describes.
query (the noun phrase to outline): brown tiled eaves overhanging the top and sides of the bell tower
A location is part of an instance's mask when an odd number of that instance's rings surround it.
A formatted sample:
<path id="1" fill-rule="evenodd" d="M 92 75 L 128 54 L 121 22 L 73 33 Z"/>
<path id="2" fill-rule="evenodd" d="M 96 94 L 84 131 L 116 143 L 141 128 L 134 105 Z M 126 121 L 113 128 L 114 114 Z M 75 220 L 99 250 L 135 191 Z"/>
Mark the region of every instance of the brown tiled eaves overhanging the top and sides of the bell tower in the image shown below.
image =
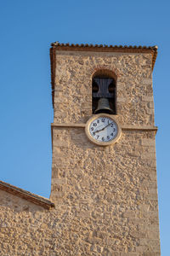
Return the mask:
<path id="1" fill-rule="evenodd" d="M 152 55 L 152 70 L 156 62 L 157 46 L 122 46 L 122 45 L 105 45 L 105 44 L 59 44 L 55 42 L 51 44 L 50 60 L 51 60 L 51 84 L 52 97 L 54 104 L 54 79 L 56 65 L 56 49 L 57 50 L 75 50 L 75 51 L 95 51 L 95 52 L 120 52 L 120 53 L 146 53 Z"/>

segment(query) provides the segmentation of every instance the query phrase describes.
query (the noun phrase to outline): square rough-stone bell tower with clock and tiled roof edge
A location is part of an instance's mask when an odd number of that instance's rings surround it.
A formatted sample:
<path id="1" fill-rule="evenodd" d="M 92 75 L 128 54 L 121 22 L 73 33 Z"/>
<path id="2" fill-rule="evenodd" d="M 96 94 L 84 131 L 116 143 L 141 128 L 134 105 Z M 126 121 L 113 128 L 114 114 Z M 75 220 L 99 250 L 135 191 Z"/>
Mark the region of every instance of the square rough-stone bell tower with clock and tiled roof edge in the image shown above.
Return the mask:
<path id="1" fill-rule="evenodd" d="M 156 54 L 156 46 L 52 44 L 59 255 L 161 255 Z"/>

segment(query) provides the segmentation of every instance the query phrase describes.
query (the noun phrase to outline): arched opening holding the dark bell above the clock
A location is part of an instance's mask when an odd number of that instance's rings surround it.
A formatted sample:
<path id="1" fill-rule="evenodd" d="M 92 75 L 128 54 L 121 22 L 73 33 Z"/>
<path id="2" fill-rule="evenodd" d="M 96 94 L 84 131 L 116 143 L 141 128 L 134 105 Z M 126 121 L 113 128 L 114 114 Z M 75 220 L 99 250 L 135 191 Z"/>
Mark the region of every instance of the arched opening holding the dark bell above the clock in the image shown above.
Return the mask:
<path id="1" fill-rule="evenodd" d="M 94 73 L 92 112 L 116 114 L 116 76 L 111 72 Z"/>

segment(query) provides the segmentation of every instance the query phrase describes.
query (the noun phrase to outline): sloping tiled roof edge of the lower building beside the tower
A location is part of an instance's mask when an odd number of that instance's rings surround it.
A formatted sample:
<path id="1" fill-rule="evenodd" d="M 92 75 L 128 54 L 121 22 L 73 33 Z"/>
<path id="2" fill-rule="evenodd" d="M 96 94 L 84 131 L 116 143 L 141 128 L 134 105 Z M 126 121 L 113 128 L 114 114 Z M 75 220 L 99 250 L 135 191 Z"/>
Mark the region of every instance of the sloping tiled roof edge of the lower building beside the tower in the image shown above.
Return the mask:
<path id="1" fill-rule="evenodd" d="M 36 204 L 45 209 L 49 210 L 51 207 L 54 207 L 54 203 L 52 203 L 48 199 L 40 195 L 34 195 L 31 192 L 26 191 L 25 189 L 20 189 L 9 183 L 4 183 L 3 181 L 0 181 L 0 189 L 12 195 L 19 196 L 20 198 L 25 199 L 26 201 L 31 201 L 31 203 Z"/>

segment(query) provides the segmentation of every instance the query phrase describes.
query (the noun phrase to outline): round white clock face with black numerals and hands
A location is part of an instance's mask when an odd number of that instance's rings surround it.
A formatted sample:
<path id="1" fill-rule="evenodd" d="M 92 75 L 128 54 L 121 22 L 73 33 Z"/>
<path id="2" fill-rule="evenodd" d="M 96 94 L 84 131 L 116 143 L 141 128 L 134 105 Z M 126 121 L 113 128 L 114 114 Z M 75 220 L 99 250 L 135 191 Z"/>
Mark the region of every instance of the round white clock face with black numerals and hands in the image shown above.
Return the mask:
<path id="1" fill-rule="evenodd" d="M 88 126 L 88 129 L 91 137 L 101 143 L 111 142 L 118 133 L 116 122 L 105 115 L 94 119 Z"/>

